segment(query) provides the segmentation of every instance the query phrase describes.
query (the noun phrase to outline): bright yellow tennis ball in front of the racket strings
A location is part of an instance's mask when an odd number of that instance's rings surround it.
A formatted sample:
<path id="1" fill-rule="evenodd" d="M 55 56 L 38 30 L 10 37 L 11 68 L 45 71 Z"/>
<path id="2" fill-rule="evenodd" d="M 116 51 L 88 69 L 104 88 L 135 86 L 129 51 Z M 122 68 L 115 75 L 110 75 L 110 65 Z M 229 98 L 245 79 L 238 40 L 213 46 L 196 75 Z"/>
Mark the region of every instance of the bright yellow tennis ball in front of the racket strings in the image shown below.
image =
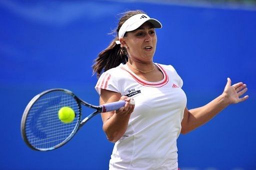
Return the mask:
<path id="1" fill-rule="evenodd" d="M 63 123 L 73 122 L 75 113 L 70 107 L 62 107 L 58 111 L 58 119 Z"/>

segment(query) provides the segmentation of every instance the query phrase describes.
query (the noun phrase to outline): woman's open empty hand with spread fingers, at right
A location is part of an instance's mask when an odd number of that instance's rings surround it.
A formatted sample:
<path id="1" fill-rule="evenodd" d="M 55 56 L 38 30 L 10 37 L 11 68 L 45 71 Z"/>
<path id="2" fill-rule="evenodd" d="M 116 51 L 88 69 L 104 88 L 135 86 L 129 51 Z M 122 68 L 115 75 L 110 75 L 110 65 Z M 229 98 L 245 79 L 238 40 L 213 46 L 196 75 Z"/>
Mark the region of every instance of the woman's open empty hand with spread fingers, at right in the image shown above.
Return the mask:
<path id="1" fill-rule="evenodd" d="M 222 95 L 225 97 L 228 104 L 234 104 L 234 103 L 239 103 L 248 99 L 249 97 L 248 95 L 239 98 L 246 91 L 247 91 L 246 84 L 239 82 L 231 86 L 231 80 L 230 78 L 227 78 L 227 83 L 225 85 Z"/>

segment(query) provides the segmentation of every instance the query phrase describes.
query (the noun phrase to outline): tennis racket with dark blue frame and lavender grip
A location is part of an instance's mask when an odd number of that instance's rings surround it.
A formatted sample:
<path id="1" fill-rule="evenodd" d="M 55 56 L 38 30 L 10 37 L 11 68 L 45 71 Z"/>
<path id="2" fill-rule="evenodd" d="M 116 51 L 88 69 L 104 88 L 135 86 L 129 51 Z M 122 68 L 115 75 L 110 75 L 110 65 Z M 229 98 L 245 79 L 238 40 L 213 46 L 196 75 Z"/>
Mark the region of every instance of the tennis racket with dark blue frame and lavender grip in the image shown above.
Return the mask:
<path id="1" fill-rule="evenodd" d="M 81 104 L 96 109 L 81 121 Z M 37 151 L 50 151 L 66 144 L 93 116 L 117 110 L 125 101 L 100 106 L 88 104 L 65 89 L 50 89 L 36 95 L 26 106 L 21 119 L 21 135 L 27 146 Z M 70 107 L 75 113 L 71 123 L 62 123 L 58 111 Z"/>

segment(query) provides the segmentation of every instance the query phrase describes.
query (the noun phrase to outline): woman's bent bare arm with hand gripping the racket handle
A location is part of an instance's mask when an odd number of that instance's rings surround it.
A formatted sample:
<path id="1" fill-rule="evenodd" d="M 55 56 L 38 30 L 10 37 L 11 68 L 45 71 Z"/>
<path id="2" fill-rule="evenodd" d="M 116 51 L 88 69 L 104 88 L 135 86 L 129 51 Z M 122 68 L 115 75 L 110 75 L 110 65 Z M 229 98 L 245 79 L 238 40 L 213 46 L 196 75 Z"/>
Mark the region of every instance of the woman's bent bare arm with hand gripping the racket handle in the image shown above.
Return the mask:
<path id="1" fill-rule="evenodd" d="M 120 93 L 116 93 L 109 90 L 100 90 L 99 104 L 105 104 L 110 102 L 116 102 L 119 100 L 125 100 L 125 106 L 119 110 L 101 113 L 103 121 L 103 131 L 106 134 L 108 141 L 115 143 L 125 133 L 130 114 L 133 112 L 134 105 L 130 104 L 130 98 L 127 96 L 121 96 Z"/>

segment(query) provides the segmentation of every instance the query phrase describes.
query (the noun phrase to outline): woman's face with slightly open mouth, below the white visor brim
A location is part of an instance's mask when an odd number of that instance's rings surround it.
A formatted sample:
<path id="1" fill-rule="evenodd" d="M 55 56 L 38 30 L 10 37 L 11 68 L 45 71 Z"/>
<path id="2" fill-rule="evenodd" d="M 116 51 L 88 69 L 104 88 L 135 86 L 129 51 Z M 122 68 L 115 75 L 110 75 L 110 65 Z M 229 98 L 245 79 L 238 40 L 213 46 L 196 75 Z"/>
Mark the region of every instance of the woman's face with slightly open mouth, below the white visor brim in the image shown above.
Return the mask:
<path id="1" fill-rule="evenodd" d="M 121 44 L 126 46 L 129 59 L 142 63 L 152 62 L 157 37 L 150 22 L 143 23 L 134 31 L 126 32 L 123 40 Z"/>

